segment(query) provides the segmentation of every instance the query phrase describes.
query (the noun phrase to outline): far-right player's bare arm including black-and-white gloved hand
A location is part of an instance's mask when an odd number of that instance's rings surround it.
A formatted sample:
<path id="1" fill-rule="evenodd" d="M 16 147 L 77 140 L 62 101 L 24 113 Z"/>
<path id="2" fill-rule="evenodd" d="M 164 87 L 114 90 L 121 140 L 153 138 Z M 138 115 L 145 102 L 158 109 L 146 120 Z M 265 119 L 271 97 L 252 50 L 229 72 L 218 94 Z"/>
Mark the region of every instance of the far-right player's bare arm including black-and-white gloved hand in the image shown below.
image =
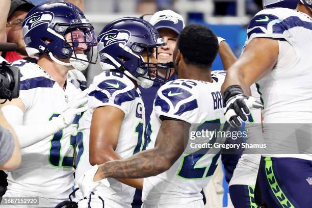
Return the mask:
<path id="1" fill-rule="evenodd" d="M 251 40 L 242 56 L 231 66 L 222 84 L 225 118 L 232 126 L 247 121 L 250 108 L 261 108 L 261 103 L 249 97 L 250 86 L 275 66 L 278 59 L 278 41 L 269 38 Z"/>

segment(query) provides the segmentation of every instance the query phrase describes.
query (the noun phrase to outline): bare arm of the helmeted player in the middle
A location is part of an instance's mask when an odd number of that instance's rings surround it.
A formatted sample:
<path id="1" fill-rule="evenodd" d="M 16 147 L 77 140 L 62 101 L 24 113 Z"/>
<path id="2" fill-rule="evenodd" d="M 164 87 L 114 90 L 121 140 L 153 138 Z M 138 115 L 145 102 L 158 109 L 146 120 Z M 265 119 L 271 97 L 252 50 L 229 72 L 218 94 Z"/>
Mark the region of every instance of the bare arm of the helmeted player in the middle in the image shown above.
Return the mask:
<path id="1" fill-rule="evenodd" d="M 122 159 L 115 150 L 123 119 L 124 112 L 112 106 L 103 106 L 94 110 L 90 127 L 91 165 Z M 116 179 L 137 189 L 143 188 L 143 179 L 141 178 Z"/>

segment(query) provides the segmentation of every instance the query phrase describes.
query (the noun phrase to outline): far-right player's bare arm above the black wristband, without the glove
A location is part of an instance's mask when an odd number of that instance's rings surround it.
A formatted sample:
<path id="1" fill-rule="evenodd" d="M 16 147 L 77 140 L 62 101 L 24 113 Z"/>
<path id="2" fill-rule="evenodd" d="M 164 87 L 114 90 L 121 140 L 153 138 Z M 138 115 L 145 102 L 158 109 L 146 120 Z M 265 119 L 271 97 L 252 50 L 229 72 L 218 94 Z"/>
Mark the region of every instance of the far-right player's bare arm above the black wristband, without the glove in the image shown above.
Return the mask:
<path id="1" fill-rule="evenodd" d="M 240 85 L 247 93 L 253 83 L 275 66 L 278 51 L 277 40 L 269 38 L 251 40 L 242 56 L 228 69 L 221 92 L 224 93 L 231 85 Z"/>

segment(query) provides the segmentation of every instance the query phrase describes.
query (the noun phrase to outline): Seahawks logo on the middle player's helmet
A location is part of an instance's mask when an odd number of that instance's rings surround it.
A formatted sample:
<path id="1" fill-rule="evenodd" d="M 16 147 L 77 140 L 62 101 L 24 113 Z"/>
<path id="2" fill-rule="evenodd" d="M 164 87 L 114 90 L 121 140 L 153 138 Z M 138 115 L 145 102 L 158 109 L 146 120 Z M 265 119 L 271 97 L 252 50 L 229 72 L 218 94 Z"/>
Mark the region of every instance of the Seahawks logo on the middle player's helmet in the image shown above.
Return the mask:
<path id="1" fill-rule="evenodd" d="M 100 34 L 100 43 L 102 47 L 98 48 L 99 50 L 112 45 L 114 43 L 127 44 L 128 40 L 131 37 L 131 33 L 127 30 L 111 30 L 106 33 Z"/>

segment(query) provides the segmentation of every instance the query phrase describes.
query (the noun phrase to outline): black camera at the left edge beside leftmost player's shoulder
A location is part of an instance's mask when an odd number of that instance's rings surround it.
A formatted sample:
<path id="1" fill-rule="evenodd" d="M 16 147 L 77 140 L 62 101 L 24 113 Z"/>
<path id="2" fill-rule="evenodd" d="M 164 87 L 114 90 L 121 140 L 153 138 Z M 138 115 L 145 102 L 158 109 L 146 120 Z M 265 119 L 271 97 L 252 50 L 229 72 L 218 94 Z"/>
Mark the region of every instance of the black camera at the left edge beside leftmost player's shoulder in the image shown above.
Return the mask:
<path id="1" fill-rule="evenodd" d="M 19 68 L 2 62 L 0 64 L 0 99 L 8 99 L 11 101 L 13 98 L 18 98 L 19 86 Z"/>

